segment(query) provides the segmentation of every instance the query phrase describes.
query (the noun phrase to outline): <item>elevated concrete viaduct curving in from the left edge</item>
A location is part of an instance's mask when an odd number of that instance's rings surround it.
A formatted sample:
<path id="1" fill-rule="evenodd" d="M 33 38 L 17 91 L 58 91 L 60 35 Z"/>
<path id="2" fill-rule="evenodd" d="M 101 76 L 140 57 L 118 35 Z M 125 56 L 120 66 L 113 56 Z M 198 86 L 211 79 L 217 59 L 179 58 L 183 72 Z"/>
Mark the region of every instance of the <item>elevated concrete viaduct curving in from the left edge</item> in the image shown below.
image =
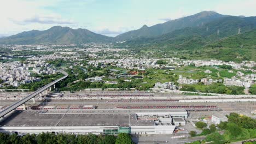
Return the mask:
<path id="1" fill-rule="evenodd" d="M 49 83 L 48 85 L 45 85 L 45 86 L 43 86 L 43 87 L 37 89 L 37 91 L 35 91 L 34 93 L 31 93 L 30 95 L 27 95 L 27 97 L 25 97 L 24 99 L 21 99 L 21 100 L 17 101 L 16 103 L 14 103 L 14 104 L 8 106 L 6 109 L 4 109 L 4 110 L 2 110 L 2 111 L 0 112 L 0 118 L 3 117 L 4 115 L 6 115 L 7 113 L 9 113 L 9 112 L 15 110 L 15 109 L 16 109 L 17 107 L 19 107 L 20 105 L 26 103 L 26 101 L 32 99 L 32 98 L 35 97 L 37 94 L 42 93 L 45 89 L 47 89 L 47 88 L 53 86 L 55 83 L 57 83 L 57 82 L 59 82 L 59 81 L 61 81 L 61 80 L 63 80 L 63 79 L 65 79 L 67 76 L 68 76 L 67 73 L 65 73 L 65 76 L 62 76 L 60 79 L 57 79 L 57 80 L 55 80 L 55 81 Z"/>

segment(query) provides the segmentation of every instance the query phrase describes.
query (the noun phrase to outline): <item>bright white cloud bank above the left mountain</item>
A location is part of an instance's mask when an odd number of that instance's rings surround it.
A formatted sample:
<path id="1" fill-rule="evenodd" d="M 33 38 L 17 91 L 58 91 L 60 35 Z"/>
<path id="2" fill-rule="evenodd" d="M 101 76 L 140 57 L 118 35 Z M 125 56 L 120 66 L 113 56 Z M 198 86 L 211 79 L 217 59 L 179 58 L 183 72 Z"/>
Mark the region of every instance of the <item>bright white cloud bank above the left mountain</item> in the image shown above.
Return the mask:
<path id="1" fill-rule="evenodd" d="M 48 29 L 57 24 L 73 24 L 73 20 L 63 19 L 59 14 L 43 9 L 59 1 L 0 0 L 0 34 L 11 35 L 31 29 Z"/>

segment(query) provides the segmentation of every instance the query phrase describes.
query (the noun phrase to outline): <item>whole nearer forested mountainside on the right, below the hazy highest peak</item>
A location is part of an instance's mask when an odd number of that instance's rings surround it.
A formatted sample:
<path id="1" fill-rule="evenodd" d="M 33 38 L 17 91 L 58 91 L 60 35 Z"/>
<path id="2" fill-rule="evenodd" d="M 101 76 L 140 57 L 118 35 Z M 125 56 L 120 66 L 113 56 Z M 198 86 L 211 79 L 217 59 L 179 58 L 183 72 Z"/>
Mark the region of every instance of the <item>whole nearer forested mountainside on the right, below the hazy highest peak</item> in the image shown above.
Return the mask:
<path id="1" fill-rule="evenodd" d="M 164 53 L 187 59 L 220 59 L 225 62 L 256 61 L 256 17 L 229 16 L 200 27 L 187 27 L 121 44 L 130 49 Z M 208 28 L 208 31 L 206 30 Z M 237 35 L 238 28 L 241 34 Z M 217 31 L 219 29 L 219 34 Z"/>

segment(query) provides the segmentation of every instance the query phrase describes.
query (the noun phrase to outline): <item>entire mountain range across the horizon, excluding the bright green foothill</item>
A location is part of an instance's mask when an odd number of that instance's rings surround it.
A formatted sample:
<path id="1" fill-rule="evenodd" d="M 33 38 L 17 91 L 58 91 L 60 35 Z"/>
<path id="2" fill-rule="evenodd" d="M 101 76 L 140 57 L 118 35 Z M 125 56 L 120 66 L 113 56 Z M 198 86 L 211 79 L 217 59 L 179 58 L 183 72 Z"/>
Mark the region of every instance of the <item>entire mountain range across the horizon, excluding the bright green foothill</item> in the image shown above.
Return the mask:
<path id="1" fill-rule="evenodd" d="M 170 24 L 171 23 L 171 24 Z M 218 14 L 214 11 L 200 13 L 170 20 L 165 23 L 129 31 L 120 35 L 131 34 L 131 38 L 121 38 L 126 41 L 121 45 L 159 45 L 179 49 L 190 49 L 191 46 L 201 46 L 208 42 L 229 37 L 237 33 L 249 31 L 256 27 L 256 17 L 230 16 Z M 170 31 L 170 32 L 169 32 Z M 217 34 L 219 31 L 219 34 Z M 164 34 L 162 34 L 164 32 Z M 107 37 L 88 29 L 72 29 L 69 27 L 53 26 L 44 31 L 32 30 L 0 38 L 0 44 L 82 44 L 91 42 L 113 43 L 120 41 L 117 37 Z M 198 43 L 199 45 L 197 45 Z M 137 47 L 136 46 L 136 47 Z"/>

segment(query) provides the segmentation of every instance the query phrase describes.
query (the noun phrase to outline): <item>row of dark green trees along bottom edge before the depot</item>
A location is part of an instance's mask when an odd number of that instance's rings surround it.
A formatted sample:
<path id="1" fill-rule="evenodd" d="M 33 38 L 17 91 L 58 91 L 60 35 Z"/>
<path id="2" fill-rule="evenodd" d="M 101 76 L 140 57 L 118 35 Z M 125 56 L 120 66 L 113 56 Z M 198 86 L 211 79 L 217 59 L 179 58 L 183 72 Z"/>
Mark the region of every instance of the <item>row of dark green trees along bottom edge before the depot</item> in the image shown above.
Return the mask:
<path id="1" fill-rule="evenodd" d="M 120 133 L 113 135 L 71 135 L 71 134 L 53 134 L 40 133 L 26 134 L 23 136 L 17 134 L 0 133 L 0 144 L 132 144 L 131 136 Z"/>

